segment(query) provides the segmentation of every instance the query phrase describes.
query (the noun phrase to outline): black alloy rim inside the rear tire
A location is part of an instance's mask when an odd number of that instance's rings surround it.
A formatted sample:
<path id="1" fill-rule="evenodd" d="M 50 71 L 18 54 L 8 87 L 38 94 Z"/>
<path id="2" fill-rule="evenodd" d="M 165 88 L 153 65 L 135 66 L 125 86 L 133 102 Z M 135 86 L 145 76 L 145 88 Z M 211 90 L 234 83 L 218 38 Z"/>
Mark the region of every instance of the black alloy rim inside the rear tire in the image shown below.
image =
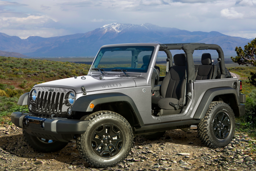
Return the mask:
<path id="1" fill-rule="evenodd" d="M 213 131 L 214 135 L 218 139 L 225 139 L 230 132 L 230 119 L 227 113 L 220 112 L 216 115 L 213 120 Z"/>

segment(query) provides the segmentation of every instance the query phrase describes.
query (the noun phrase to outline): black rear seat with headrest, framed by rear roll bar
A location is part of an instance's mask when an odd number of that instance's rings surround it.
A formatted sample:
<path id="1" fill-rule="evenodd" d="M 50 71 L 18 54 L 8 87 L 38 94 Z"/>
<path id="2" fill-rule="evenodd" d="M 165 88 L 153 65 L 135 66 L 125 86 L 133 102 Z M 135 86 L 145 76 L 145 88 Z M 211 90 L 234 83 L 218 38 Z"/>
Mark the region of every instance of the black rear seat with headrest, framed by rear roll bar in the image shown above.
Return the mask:
<path id="1" fill-rule="evenodd" d="M 196 80 L 211 80 L 214 71 L 211 54 L 203 53 L 201 62 L 202 65 L 195 65 L 195 70 L 197 72 Z"/>

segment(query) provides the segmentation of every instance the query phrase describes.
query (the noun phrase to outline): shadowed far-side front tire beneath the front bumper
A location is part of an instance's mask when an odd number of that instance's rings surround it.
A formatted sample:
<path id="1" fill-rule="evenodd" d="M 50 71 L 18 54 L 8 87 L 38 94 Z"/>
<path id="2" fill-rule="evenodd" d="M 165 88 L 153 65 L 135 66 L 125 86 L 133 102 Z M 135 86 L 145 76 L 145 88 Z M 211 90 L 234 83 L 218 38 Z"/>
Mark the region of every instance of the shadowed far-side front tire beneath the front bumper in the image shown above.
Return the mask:
<path id="1" fill-rule="evenodd" d="M 28 134 L 25 129 L 22 130 L 22 133 L 27 144 L 35 151 L 41 153 L 57 152 L 68 144 L 68 142 L 61 141 L 53 141 L 51 143 L 43 142 L 40 138 Z"/>

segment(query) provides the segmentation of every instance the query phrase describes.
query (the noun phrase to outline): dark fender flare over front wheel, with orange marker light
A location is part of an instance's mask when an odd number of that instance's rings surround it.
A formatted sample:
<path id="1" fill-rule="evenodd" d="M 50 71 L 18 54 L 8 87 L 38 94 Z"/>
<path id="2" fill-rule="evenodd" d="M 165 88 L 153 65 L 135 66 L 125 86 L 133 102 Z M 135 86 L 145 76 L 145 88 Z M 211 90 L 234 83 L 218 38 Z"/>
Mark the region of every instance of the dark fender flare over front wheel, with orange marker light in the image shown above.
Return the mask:
<path id="1" fill-rule="evenodd" d="M 93 112 L 94 108 L 90 108 L 90 104 L 93 103 L 94 106 L 98 104 L 104 104 L 109 102 L 118 102 L 118 101 L 124 101 L 127 102 L 131 109 L 133 110 L 133 113 L 139 123 L 140 126 L 144 126 L 144 123 L 142 121 L 142 118 L 139 114 L 139 111 L 137 109 L 137 106 L 135 105 L 134 101 L 131 97 L 123 94 L 123 93 L 99 93 L 99 94 L 91 94 L 79 97 L 75 100 L 75 103 L 73 104 L 71 111 L 76 112 Z"/>

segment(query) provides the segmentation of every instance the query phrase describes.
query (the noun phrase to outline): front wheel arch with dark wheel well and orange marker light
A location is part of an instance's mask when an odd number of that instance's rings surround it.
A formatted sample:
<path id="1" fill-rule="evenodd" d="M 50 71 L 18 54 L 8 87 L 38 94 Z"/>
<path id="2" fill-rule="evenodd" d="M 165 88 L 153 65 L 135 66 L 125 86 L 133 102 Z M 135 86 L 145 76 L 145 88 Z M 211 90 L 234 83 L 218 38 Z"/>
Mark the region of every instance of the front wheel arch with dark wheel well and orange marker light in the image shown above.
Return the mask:
<path id="1" fill-rule="evenodd" d="M 90 108 L 91 103 L 94 104 L 93 108 Z M 134 125 L 144 126 L 134 101 L 131 97 L 123 93 L 99 93 L 86 95 L 78 98 L 71 110 L 79 113 L 84 112 L 85 115 L 97 111 L 116 112 L 123 116 L 132 127 Z"/>

